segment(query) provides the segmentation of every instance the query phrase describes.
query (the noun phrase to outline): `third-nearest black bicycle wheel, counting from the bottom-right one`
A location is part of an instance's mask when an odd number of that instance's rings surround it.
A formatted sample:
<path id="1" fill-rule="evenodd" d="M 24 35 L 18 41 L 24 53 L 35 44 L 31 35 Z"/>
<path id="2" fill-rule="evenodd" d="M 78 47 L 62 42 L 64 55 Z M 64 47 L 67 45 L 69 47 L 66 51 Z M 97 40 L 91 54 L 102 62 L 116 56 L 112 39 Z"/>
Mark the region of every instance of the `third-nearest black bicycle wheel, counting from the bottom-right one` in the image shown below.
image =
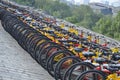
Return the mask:
<path id="1" fill-rule="evenodd" d="M 73 64 L 81 62 L 81 59 L 75 56 L 62 58 L 55 66 L 55 80 L 62 80 L 65 71 Z"/>

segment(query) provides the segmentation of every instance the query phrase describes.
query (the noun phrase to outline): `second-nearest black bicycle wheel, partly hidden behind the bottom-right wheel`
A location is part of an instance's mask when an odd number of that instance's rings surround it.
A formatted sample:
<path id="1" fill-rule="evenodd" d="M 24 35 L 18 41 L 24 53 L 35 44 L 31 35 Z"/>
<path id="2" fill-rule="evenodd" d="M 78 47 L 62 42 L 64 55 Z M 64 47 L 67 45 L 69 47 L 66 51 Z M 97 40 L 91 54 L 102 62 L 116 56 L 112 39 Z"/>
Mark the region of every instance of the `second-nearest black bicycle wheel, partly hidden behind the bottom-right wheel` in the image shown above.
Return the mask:
<path id="1" fill-rule="evenodd" d="M 88 62 L 80 62 L 73 64 L 64 73 L 63 80 L 75 80 L 82 72 L 94 69 L 95 66 Z"/>

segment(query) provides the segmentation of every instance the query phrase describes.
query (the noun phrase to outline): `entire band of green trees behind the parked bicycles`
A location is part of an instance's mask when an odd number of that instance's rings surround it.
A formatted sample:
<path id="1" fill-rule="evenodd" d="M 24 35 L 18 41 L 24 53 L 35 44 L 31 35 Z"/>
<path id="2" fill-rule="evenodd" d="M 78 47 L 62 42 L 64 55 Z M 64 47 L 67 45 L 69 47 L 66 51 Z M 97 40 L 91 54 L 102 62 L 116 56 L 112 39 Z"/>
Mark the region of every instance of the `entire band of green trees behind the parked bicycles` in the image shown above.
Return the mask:
<path id="1" fill-rule="evenodd" d="M 106 36 L 120 40 L 120 12 L 116 17 L 94 13 L 87 5 L 67 5 L 60 0 L 12 0 L 43 9 L 54 17 L 65 19 Z"/>

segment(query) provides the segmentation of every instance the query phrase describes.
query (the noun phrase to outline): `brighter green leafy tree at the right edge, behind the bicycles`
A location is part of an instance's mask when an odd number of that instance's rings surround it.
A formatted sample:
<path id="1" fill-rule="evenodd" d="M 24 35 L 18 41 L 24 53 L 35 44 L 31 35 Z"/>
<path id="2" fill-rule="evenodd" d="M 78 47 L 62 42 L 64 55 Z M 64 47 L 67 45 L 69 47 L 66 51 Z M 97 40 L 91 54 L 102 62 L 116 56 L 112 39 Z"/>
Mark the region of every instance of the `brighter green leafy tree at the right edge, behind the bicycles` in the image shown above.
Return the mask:
<path id="1" fill-rule="evenodd" d="M 93 27 L 94 31 L 109 36 L 111 38 L 120 40 L 120 12 L 116 17 L 105 16 L 101 18 L 96 26 Z"/>

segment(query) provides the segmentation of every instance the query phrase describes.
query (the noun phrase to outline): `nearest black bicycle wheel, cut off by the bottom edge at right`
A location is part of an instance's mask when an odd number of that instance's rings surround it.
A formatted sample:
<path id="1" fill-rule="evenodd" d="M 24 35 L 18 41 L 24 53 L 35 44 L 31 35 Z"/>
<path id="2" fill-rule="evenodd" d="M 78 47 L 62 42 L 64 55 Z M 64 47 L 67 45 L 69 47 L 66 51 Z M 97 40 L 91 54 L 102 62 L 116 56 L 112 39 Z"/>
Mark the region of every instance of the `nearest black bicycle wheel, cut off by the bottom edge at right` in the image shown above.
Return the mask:
<path id="1" fill-rule="evenodd" d="M 83 72 L 75 80 L 106 80 L 106 75 L 102 71 L 89 70 Z"/>

